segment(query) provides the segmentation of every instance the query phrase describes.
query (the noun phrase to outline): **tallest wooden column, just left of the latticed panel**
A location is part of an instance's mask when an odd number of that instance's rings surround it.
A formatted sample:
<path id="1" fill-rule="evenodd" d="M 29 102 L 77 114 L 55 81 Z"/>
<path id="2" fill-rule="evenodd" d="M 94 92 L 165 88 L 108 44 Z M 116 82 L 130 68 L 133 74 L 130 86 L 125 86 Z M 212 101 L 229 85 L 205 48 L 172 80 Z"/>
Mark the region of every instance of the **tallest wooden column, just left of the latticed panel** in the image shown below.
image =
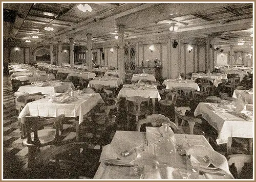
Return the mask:
<path id="1" fill-rule="evenodd" d="M 124 81 L 124 25 L 117 25 L 118 28 L 118 74 L 119 77 Z"/>

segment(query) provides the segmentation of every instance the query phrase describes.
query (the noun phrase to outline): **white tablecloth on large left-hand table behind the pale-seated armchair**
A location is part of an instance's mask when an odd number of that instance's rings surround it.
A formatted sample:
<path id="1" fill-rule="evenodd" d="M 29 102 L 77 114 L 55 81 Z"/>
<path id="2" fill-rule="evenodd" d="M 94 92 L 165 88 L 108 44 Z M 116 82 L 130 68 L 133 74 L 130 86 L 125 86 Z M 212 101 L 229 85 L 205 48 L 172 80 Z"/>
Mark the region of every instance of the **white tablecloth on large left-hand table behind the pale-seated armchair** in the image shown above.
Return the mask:
<path id="1" fill-rule="evenodd" d="M 56 117 L 64 114 L 66 117 L 79 116 L 80 124 L 83 120 L 83 115 L 87 114 L 98 103 L 104 103 L 98 93 L 88 95 L 90 95 L 88 99 L 75 99 L 66 103 L 50 102 L 49 98 L 35 100 L 27 103 L 18 117 L 22 118 L 27 114 L 31 116 Z"/>

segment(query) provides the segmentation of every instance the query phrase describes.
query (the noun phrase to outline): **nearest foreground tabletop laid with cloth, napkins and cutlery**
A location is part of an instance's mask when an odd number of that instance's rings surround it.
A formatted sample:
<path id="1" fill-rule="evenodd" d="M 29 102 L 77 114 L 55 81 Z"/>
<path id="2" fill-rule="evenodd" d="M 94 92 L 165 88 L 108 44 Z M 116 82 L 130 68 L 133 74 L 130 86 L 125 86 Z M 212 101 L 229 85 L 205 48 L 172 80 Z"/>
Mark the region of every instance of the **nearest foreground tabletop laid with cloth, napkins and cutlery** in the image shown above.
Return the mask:
<path id="1" fill-rule="evenodd" d="M 146 127 L 145 133 L 117 131 L 112 142 L 102 149 L 94 179 L 233 178 L 224 155 L 214 151 L 200 135 L 174 134 L 175 142 L 167 135 L 174 149 L 173 160 L 167 160 L 165 150 L 158 150 L 164 138 L 162 129 Z"/>

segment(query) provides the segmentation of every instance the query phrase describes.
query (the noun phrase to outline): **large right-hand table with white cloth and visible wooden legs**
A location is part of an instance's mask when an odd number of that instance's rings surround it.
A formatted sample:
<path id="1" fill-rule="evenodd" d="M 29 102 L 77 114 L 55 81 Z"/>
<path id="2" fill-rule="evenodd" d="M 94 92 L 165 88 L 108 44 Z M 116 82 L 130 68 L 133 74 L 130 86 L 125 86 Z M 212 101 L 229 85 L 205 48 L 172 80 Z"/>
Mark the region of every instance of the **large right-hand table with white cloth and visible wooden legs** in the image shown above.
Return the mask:
<path id="1" fill-rule="evenodd" d="M 195 116 L 202 117 L 216 129 L 218 145 L 227 144 L 231 149 L 232 138 L 248 138 L 248 150 L 251 152 L 253 134 L 253 111 L 243 109 L 240 113 L 234 112 L 234 102 L 224 100 L 220 103 L 200 102 L 194 112 Z M 227 151 L 230 153 L 230 151 Z"/>

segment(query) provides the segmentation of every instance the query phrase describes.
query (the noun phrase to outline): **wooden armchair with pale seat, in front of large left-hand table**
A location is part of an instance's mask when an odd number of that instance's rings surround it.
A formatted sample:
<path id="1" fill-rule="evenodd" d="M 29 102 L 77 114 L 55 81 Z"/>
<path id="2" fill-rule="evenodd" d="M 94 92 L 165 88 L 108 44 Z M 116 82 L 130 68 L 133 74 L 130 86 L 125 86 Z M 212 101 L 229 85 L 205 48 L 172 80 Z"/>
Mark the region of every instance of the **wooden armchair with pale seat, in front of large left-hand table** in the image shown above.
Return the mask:
<path id="1" fill-rule="evenodd" d="M 25 116 L 20 118 L 27 138 L 23 144 L 28 147 L 28 168 L 33 168 L 37 151 L 42 146 L 60 144 L 61 119 L 65 115 L 59 115 L 54 118 L 46 119 L 43 117 Z M 55 124 L 55 128 L 44 129 L 44 125 Z M 34 135 L 31 135 L 33 133 Z"/>

